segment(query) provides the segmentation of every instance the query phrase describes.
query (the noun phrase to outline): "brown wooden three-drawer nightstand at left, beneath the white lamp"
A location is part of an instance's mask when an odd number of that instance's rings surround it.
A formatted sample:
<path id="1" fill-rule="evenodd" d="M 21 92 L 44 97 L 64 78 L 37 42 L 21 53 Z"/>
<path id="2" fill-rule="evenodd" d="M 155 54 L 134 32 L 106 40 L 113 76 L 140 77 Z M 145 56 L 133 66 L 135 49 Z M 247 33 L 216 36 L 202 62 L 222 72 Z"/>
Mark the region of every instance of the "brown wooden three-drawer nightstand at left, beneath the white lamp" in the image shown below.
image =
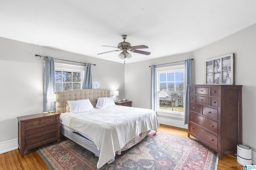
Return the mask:
<path id="1" fill-rule="evenodd" d="M 60 113 L 38 113 L 18 118 L 18 150 L 25 151 L 57 141 L 60 143 Z"/>

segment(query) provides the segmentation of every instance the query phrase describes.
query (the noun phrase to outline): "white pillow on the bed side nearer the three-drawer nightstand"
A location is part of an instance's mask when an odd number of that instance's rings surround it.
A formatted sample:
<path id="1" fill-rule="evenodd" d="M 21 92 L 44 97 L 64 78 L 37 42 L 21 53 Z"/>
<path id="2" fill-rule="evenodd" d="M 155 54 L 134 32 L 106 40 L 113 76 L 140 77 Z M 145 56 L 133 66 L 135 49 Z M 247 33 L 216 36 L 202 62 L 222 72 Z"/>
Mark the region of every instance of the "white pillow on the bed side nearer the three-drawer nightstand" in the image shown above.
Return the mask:
<path id="1" fill-rule="evenodd" d="M 89 99 L 67 101 L 70 113 L 82 113 L 94 110 Z"/>

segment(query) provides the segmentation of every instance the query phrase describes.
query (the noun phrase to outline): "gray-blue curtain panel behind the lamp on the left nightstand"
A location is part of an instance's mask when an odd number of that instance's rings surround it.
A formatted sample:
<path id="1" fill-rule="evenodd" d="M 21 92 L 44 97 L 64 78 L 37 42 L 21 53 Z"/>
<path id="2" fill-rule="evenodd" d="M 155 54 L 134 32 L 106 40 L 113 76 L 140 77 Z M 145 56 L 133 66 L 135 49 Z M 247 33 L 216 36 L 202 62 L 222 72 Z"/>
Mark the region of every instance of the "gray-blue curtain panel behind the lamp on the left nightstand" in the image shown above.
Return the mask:
<path id="1" fill-rule="evenodd" d="M 56 93 L 54 58 L 46 57 L 44 63 L 44 111 L 50 111 L 51 102 L 47 102 L 47 94 Z M 53 110 L 56 103 L 53 104 Z"/>

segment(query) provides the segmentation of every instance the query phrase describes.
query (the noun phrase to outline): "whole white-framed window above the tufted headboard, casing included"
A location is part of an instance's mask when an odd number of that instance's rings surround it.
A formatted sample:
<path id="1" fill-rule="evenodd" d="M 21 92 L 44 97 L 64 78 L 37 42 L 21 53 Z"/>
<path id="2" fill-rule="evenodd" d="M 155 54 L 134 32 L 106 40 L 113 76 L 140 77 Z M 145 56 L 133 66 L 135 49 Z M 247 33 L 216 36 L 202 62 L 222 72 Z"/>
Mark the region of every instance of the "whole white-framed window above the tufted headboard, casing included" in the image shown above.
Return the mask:
<path id="1" fill-rule="evenodd" d="M 56 92 L 81 89 L 84 66 L 54 63 Z"/>

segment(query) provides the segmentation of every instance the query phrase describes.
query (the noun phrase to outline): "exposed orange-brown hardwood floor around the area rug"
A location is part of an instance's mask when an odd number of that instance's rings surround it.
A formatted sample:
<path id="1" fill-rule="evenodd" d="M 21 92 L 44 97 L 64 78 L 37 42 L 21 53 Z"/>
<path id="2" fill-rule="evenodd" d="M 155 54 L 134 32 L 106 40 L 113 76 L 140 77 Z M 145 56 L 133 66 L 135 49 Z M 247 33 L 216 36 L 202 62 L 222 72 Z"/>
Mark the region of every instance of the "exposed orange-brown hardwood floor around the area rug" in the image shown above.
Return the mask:
<path id="1" fill-rule="evenodd" d="M 188 138 L 187 129 L 160 125 L 159 132 L 164 132 Z M 192 139 L 195 139 L 191 136 Z M 195 139 L 196 140 L 196 139 Z M 236 162 L 236 158 L 224 155 L 218 160 L 218 170 L 242 170 L 243 166 Z M 38 152 L 34 151 L 20 157 L 18 149 L 0 154 L 0 170 L 50 170 Z"/>

